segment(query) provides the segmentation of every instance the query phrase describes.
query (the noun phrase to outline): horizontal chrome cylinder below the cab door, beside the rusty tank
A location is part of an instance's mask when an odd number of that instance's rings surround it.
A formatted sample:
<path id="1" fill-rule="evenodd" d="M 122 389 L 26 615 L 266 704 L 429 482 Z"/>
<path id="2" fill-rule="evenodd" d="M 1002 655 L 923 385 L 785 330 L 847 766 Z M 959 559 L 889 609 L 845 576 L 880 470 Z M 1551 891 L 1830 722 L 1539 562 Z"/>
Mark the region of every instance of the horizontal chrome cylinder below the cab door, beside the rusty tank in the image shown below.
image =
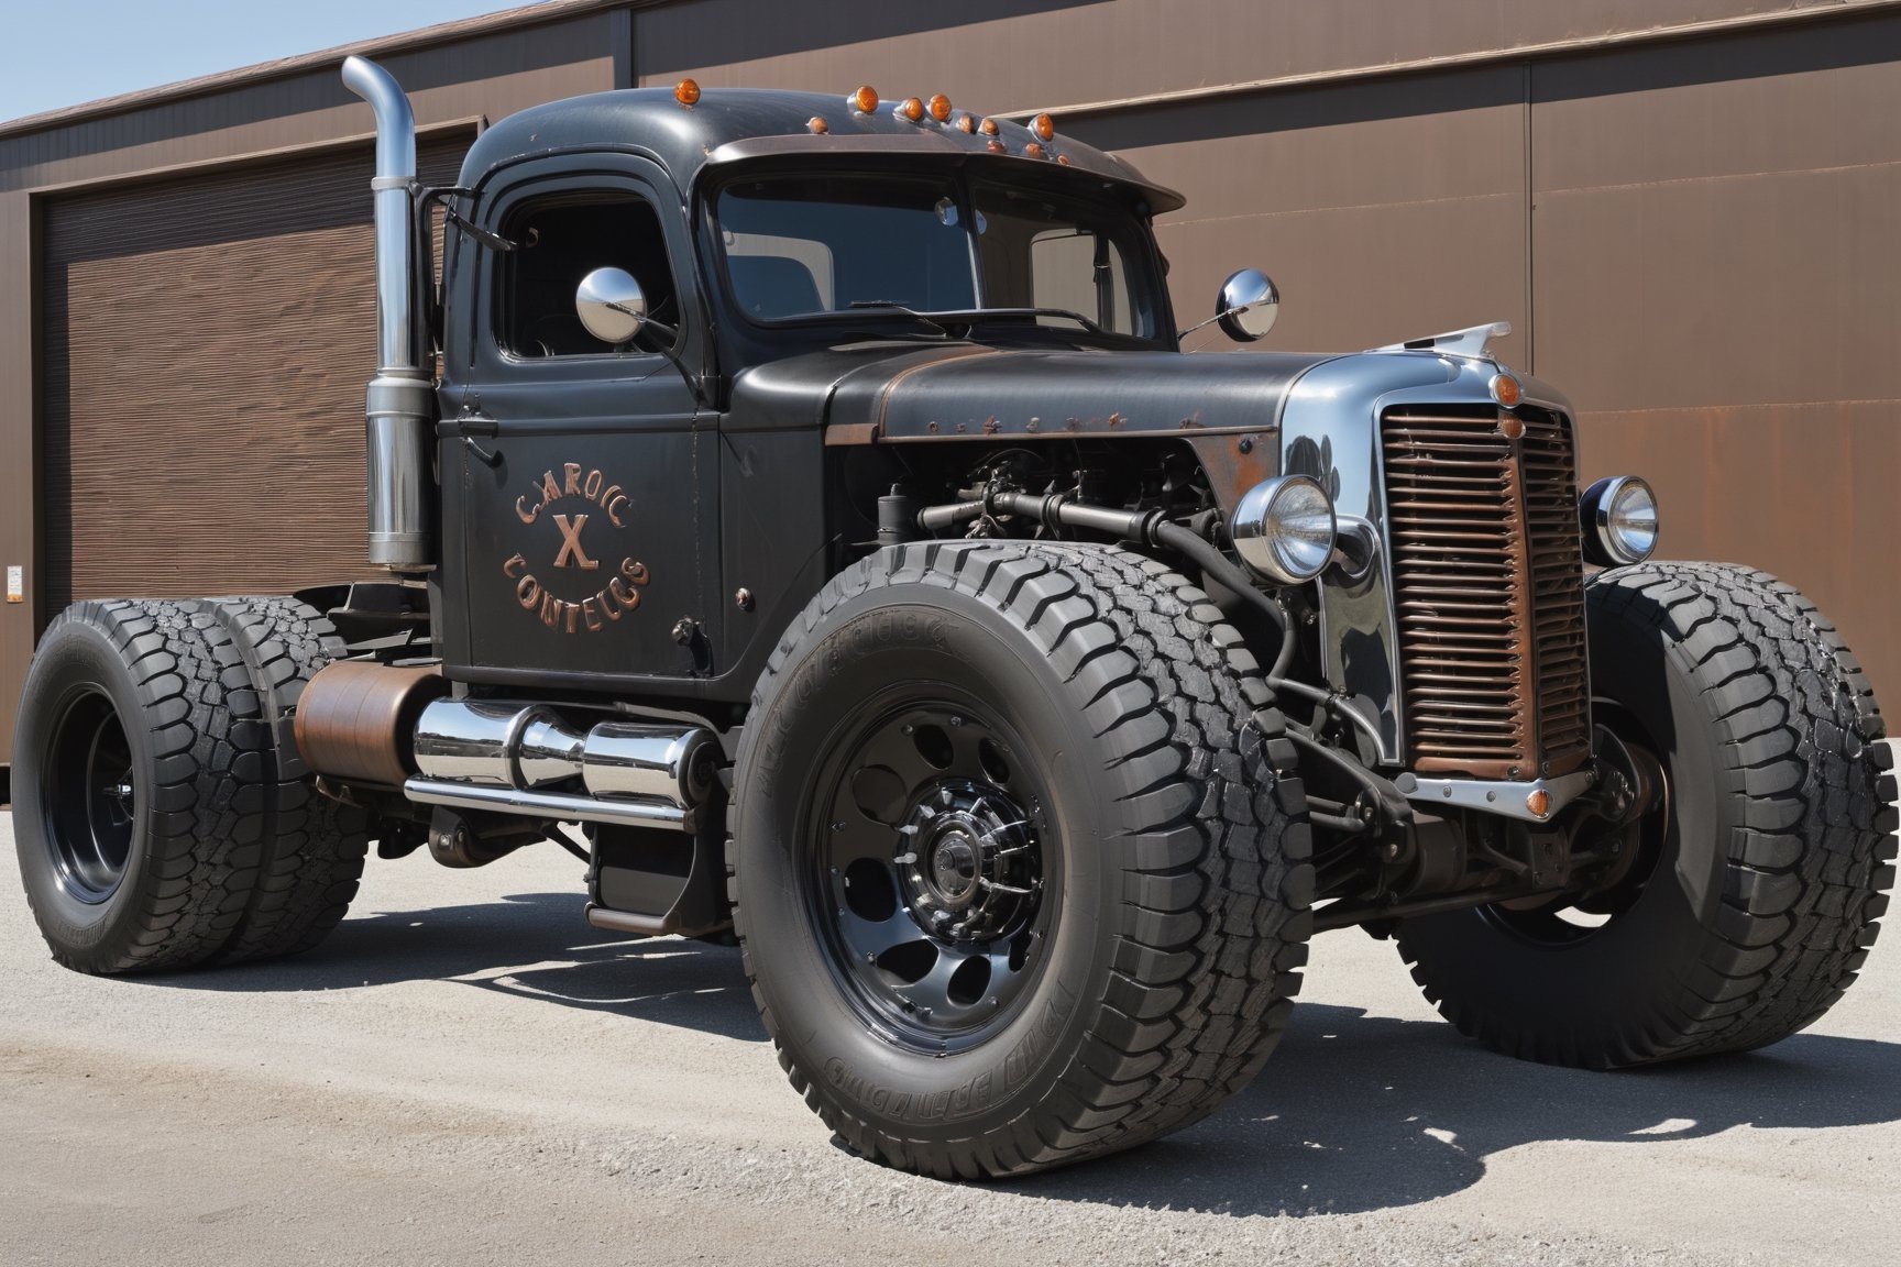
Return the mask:
<path id="1" fill-rule="evenodd" d="M 692 809 L 713 790 L 719 741 L 703 726 L 601 722 L 582 731 L 547 705 L 437 699 L 416 722 L 426 781 L 528 792 L 580 781 L 603 802 Z"/>

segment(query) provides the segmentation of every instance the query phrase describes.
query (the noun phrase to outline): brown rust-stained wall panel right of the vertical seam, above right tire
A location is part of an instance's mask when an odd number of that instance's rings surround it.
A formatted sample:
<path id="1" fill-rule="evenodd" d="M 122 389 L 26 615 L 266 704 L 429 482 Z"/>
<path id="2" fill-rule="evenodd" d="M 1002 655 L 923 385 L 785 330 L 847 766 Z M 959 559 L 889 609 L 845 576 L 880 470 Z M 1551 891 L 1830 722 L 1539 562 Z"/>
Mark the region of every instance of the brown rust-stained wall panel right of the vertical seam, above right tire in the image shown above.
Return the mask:
<path id="1" fill-rule="evenodd" d="M 1660 555 L 1776 572 L 1901 690 L 1901 17 L 1532 70 L 1536 363 Z"/>

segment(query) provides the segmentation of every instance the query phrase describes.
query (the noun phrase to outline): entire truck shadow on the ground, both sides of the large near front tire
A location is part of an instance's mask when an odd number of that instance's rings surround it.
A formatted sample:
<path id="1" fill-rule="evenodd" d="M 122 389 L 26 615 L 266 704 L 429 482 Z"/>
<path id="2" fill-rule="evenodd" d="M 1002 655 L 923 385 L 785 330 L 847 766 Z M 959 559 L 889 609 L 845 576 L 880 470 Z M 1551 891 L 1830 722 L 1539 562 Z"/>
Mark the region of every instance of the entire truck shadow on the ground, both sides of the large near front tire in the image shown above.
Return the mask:
<path id="1" fill-rule="evenodd" d="M 616 940 L 576 893 L 344 921 L 278 963 L 141 978 L 221 992 L 454 980 L 519 999 L 764 1041 L 739 952 Z M 1253 1087 L 1146 1147 L 1002 1185 L 1027 1197 L 1217 1214 L 1355 1214 L 1477 1183 L 1532 1142 L 1641 1149 L 1724 1130 L 1901 1121 L 1901 1045 L 1798 1033 L 1762 1052 L 1627 1073 L 1509 1060 L 1435 1020 L 1302 1003 Z M 817 1125 L 814 1123 L 814 1130 Z M 1774 1142 L 1764 1138 L 1764 1147 Z"/>

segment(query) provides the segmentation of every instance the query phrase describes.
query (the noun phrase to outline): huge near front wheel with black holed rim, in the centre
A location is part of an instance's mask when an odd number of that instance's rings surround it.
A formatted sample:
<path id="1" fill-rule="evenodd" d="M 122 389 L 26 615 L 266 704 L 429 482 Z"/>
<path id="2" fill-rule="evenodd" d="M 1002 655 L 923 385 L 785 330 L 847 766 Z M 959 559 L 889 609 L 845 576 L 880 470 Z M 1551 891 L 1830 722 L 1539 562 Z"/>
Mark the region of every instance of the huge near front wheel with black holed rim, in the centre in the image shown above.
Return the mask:
<path id="1" fill-rule="evenodd" d="M 1120 549 L 918 543 L 825 585 L 739 747 L 736 921 L 779 1064 L 865 1157 L 1150 1140 L 1287 1022 L 1306 798 L 1220 612 Z"/>

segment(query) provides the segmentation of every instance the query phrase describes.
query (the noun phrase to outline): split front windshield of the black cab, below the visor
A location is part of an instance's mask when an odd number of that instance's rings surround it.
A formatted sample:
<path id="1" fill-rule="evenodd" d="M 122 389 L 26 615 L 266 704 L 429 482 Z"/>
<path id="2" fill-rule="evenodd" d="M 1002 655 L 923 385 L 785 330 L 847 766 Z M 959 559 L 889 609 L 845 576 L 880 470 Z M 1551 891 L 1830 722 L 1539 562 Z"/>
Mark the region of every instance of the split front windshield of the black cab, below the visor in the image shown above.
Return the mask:
<path id="1" fill-rule="evenodd" d="M 1158 336 L 1143 230 L 1114 205 L 949 179 L 764 177 L 726 186 L 715 217 L 753 321 L 1011 310 Z"/>

